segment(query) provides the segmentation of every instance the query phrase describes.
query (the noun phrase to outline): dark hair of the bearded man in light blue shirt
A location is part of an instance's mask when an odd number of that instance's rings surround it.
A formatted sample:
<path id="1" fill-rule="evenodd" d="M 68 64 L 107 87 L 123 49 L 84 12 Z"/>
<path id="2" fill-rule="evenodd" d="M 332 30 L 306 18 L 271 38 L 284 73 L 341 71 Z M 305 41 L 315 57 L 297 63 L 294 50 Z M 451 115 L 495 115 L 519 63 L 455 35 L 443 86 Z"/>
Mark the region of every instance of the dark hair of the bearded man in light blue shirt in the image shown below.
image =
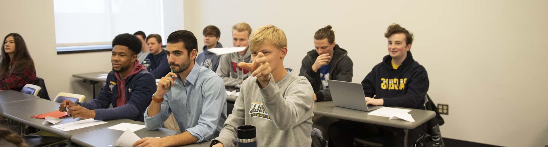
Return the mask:
<path id="1" fill-rule="evenodd" d="M 192 49 L 198 49 L 198 40 L 196 39 L 196 36 L 190 31 L 187 30 L 179 30 L 175 31 L 169 34 L 168 36 L 168 43 L 179 43 L 182 42 L 185 44 L 185 49 L 190 52 L 192 52 Z"/>

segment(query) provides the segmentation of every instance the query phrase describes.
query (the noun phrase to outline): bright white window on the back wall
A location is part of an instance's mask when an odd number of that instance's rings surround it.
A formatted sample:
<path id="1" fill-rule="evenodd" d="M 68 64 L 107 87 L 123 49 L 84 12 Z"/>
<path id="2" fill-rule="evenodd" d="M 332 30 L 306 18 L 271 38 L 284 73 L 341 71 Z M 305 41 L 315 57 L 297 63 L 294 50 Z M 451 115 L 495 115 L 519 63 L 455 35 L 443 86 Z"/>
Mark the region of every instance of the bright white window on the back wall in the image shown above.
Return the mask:
<path id="1" fill-rule="evenodd" d="M 53 6 L 58 54 L 110 50 L 112 39 L 121 33 L 144 31 L 161 35 L 164 42 L 167 39 L 163 0 L 54 0 Z"/>

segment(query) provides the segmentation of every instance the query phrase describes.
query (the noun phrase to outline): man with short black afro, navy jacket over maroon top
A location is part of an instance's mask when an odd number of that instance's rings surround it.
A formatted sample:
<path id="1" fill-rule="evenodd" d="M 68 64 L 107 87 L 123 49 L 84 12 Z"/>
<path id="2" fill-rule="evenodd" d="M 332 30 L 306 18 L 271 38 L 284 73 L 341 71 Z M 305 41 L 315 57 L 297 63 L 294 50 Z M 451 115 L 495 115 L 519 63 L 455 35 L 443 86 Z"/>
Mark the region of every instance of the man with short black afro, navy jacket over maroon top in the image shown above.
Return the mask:
<path id="1" fill-rule="evenodd" d="M 144 121 L 143 114 L 156 89 L 154 76 L 137 61 L 141 50 L 139 38 L 129 33 L 112 40 L 112 71 L 99 96 L 91 101 L 73 103 L 65 100 L 59 111 L 67 111 L 72 118 L 117 120 L 128 118 Z M 112 104 L 113 108 L 109 108 Z"/>

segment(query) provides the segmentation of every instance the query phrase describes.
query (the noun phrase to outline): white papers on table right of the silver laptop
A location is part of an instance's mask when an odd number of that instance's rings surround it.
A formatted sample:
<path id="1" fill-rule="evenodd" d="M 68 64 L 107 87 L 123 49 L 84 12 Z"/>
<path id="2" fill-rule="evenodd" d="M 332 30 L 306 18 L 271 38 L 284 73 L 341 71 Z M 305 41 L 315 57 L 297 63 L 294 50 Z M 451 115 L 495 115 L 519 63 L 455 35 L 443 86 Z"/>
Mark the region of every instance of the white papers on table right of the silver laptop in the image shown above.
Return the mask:
<path id="1" fill-rule="evenodd" d="M 399 109 L 399 108 L 390 108 L 390 107 L 383 107 L 379 108 L 373 112 L 369 112 L 367 115 L 374 115 L 374 116 L 383 116 L 383 117 L 390 117 L 389 120 L 406 120 L 409 122 L 415 122 L 413 117 L 409 114 L 409 109 Z"/>

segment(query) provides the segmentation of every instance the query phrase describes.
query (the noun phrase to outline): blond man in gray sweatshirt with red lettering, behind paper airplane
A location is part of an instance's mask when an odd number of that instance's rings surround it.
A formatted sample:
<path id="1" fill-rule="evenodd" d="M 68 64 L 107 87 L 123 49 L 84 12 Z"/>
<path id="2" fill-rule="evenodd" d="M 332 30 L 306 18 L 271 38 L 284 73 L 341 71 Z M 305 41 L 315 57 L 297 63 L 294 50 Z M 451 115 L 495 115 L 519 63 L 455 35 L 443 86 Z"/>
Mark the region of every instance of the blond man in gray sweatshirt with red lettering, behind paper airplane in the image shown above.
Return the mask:
<path id="1" fill-rule="evenodd" d="M 246 22 L 240 22 L 232 26 L 232 45 L 234 47 L 247 47 L 249 35 L 252 29 Z M 238 66 L 238 63 L 251 63 L 251 52 L 248 48 L 242 52 L 225 54 L 219 61 L 217 75 L 225 82 L 226 87 L 240 87 L 249 76 L 249 71 Z"/>

